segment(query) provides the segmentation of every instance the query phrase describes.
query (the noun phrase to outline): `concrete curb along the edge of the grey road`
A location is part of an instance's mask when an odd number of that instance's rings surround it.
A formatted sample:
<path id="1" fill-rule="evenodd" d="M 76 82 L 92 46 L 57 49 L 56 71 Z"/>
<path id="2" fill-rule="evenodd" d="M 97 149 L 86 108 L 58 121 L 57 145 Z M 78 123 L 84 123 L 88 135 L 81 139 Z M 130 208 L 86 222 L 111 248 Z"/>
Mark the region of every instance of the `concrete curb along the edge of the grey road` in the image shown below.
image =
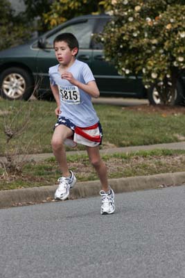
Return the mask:
<path id="1" fill-rule="evenodd" d="M 115 193 L 132 192 L 136 190 L 165 188 L 168 186 L 185 185 L 185 172 L 155 174 L 151 176 L 109 179 L 109 185 Z M 0 208 L 23 206 L 41 202 L 54 202 L 53 196 L 58 186 L 42 186 L 0 191 Z M 95 197 L 99 195 L 99 181 L 83 181 L 71 189 L 69 199 Z"/>

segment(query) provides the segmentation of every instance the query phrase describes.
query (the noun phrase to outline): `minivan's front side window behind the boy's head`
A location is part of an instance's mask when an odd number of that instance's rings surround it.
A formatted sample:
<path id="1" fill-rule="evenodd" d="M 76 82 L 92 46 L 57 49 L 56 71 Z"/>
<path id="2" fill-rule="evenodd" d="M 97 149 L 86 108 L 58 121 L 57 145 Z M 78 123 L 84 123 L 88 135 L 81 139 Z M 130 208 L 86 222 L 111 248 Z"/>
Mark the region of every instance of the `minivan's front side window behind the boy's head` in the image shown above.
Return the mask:
<path id="1" fill-rule="evenodd" d="M 62 28 L 60 31 L 51 35 L 46 40 L 46 48 L 53 48 L 53 40 L 60 33 L 73 33 L 76 36 L 80 49 L 89 49 L 91 44 L 91 34 L 94 30 L 94 19 L 89 19 L 86 22 L 79 22 L 76 24 L 71 24 Z"/>

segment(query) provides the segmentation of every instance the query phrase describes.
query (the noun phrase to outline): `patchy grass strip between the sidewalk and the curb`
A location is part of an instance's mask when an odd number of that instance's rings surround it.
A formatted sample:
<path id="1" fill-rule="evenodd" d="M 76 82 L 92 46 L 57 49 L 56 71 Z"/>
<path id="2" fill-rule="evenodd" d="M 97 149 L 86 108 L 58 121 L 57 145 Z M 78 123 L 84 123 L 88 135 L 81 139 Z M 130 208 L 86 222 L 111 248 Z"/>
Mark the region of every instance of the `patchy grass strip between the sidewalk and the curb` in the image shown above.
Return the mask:
<path id="1" fill-rule="evenodd" d="M 129 154 L 103 155 L 108 169 L 108 178 L 136 177 L 165 172 L 185 171 L 185 150 L 156 149 Z M 98 177 L 89 165 L 87 155 L 68 155 L 69 167 L 78 181 L 93 181 Z M 0 168 L 0 190 L 27 188 L 34 186 L 53 186 L 60 177 L 55 158 L 26 163 L 18 175 L 3 176 Z"/>

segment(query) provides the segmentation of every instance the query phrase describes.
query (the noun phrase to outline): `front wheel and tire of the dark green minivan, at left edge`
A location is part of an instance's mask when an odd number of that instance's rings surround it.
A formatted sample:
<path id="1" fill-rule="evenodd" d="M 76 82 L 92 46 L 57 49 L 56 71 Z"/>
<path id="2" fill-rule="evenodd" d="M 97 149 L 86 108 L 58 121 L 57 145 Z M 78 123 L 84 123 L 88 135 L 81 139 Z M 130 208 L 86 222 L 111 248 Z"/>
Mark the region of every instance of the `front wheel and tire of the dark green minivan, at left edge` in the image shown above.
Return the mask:
<path id="1" fill-rule="evenodd" d="M 32 76 L 20 67 L 10 67 L 0 75 L 1 97 L 28 100 L 33 93 Z"/>

